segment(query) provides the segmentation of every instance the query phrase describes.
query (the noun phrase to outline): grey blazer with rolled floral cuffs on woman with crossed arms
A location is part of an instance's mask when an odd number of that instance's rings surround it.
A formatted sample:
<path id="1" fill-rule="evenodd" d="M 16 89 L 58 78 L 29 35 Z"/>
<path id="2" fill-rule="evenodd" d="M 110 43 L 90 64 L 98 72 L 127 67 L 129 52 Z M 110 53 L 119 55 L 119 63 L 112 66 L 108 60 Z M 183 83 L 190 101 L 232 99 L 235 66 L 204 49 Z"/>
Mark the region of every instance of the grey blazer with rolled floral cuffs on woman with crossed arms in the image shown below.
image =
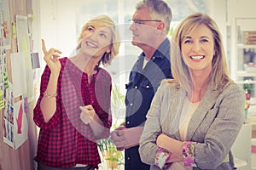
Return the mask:
<path id="1" fill-rule="evenodd" d="M 181 140 L 178 126 L 186 93 L 172 87 L 169 82 L 160 84 L 147 114 L 140 139 L 139 153 L 143 162 L 154 166 L 158 150 L 156 139 L 160 133 Z M 236 83 L 219 94 L 218 89 L 207 89 L 204 98 L 193 114 L 188 127 L 187 141 L 195 144 L 193 169 L 234 169 L 230 148 L 244 122 L 245 93 Z M 228 160 L 224 161 L 228 156 Z"/>

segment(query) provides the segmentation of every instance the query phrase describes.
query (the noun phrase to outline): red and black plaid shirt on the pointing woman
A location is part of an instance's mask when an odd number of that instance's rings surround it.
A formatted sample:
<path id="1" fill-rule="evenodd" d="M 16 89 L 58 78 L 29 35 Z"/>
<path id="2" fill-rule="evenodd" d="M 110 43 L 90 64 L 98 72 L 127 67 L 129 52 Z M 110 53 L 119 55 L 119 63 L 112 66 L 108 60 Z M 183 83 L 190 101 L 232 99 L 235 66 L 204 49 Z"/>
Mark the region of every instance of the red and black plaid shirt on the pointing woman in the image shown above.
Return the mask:
<path id="1" fill-rule="evenodd" d="M 87 74 L 80 71 L 69 59 L 62 58 L 60 61 L 57 109 L 47 123 L 44 122 L 40 108 L 50 75 L 47 65 L 41 77 L 40 96 L 33 115 L 34 122 L 40 127 L 35 160 L 50 167 L 74 167 L 76 164 L 97 167 L 101 161 L 95 136 L 90 126 L 80 120 L 79 106 L 93 105 L 104 127 L 107 127 L 102 138 L 107 138 L 112 123 L 111 77 L 107 71 L 98 68 L 89 84 Z"/>

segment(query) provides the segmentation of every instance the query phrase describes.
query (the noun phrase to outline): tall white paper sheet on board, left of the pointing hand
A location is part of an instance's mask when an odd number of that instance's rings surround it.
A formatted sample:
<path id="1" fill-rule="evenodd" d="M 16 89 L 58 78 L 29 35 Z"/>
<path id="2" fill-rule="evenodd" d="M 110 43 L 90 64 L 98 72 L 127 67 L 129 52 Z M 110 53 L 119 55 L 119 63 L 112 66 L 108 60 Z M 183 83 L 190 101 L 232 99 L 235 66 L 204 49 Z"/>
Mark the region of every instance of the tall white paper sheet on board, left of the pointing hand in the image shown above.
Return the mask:
<path id="1" fill-rule="evenodd" d="M 25 70 L 26 70 L 26 97 L 29 101 L 34 98 L 33 90 L 33 71 L 31 48 L 29 41 L 29 33 L 27 26 L 27 17 L 23 15 L 16 15 L 16 35 L 18 43 L 18 52 L 24 54 Z"/>

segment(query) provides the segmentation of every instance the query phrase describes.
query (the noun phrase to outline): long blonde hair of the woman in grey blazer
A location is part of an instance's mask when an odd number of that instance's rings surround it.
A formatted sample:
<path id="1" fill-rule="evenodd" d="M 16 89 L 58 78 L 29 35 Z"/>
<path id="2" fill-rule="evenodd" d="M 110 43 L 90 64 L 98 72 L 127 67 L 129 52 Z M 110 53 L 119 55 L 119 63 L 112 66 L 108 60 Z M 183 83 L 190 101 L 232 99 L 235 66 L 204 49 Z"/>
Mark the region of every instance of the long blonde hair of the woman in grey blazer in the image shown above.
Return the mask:
<path id="1" fill-rule="evenodd" d="M 181 21 L 175 29 L 172 35 L 171 46 L 172 76 L 174 77 L 174 82 L 176 82 L 177 87 L 183 87 L 187 91 L 191 90 L 193 84 L 189 67 L 183 61 L 181 43 L 186 34 L 201 24 L 207 26 L 212 31 L 214 40 L 215 54 L 212 58 L 212 73 L 209 77 L 209 82 L 212 88 L 218 88 L 221 92 L 233 81 L 230 79 L 230 73 L 226 56 L 224 54 L 224 45 L 220 31 L 218 30 L 218 26 L 216 25 L 215 21 L 212 20 L 212 18 L 207 14 L 189 14 L 189 16 Z"/>

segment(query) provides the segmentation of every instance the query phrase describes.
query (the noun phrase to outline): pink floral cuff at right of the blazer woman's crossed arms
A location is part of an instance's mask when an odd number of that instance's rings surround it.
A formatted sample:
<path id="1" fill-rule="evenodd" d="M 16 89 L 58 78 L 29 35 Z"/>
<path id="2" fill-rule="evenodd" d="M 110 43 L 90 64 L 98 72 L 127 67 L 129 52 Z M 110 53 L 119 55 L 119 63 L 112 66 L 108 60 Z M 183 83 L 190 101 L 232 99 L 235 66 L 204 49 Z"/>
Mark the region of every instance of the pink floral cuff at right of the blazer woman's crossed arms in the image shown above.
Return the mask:
<path id="1" fill-rule="evenodd" d="M 196 167 L 195 165 L 195 143 L 190 141 L 183 142 L 184 167 Z"/>

